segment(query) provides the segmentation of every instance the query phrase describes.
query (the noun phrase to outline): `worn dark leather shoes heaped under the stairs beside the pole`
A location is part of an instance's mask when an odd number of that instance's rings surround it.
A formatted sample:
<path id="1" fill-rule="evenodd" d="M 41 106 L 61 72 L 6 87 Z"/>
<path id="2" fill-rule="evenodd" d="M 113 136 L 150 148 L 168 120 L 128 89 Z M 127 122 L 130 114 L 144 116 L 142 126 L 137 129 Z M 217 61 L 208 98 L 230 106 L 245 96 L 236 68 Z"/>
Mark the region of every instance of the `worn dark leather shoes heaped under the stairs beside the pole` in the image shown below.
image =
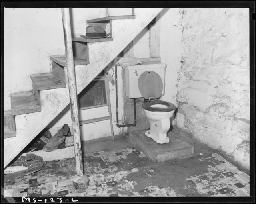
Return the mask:
<path id="1" fill-rule="evenodd" d="M 70 128 L 67 124 L 64 124 L 62 128 L 60 128 L 57 133 L 53 137 L 46 137 L 46 135 L 42 136 L 40 139 L 46 145 L 43 147 L 43 151 L 54 151 L 55 149 L 62 149 L 65 146 L 65 136 L 71 136 Z"/>

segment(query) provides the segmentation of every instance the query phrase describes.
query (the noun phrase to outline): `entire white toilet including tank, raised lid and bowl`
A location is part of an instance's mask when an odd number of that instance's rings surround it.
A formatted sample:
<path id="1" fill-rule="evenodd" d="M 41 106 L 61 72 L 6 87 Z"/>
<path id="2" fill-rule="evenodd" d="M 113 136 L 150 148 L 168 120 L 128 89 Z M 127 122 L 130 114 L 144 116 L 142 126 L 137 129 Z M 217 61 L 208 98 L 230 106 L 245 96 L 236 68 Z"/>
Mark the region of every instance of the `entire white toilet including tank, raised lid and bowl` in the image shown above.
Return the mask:
<path id="1" fill-rule="evenodd" d="M 174 104 L 159 100 L 165 91 L 165 63 L 151 63 L 125 67 L 126 96 L 144 98 L 142 107 L 150 123 L 147 137 L 156 143 L 169 142 L 167 131 L 170 129 L 170 118 L 176 107 Z"/>

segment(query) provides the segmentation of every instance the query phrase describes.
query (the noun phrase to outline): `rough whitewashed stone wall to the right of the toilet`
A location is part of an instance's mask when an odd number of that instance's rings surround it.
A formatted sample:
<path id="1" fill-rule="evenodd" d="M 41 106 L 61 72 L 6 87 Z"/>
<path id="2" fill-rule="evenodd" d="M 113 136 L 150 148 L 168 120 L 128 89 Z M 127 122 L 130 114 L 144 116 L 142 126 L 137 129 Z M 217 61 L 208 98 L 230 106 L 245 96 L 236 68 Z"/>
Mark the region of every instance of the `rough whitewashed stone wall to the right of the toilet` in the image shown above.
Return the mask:
<path id="1" fill-rule="evenodd" d="M 177 124 L 249 169 L 249 9 L 185 8 Z"/>

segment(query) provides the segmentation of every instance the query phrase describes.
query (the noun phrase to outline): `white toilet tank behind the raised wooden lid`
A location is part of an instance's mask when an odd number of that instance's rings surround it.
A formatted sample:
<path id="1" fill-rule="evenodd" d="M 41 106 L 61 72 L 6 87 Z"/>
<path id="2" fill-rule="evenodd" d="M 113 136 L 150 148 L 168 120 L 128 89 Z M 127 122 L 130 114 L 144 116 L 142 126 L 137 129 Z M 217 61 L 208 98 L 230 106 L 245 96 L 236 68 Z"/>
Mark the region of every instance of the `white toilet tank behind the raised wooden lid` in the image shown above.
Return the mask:
<path id="1" fill-rule="evenodd" d="M 165 63 L 152 63 L 146 65 L 131 65 L 126 66 L 124 68 L 125 75 L 125 93 L 129 98 L 141 98 L 140 90 L 138 87 L 138 79 L 142 73 L 145 71 L 154 71 L 156 72 L 162 79 L 163 82 L 163 91 L 162 95 L 164 95 L 165 88 Z"/>

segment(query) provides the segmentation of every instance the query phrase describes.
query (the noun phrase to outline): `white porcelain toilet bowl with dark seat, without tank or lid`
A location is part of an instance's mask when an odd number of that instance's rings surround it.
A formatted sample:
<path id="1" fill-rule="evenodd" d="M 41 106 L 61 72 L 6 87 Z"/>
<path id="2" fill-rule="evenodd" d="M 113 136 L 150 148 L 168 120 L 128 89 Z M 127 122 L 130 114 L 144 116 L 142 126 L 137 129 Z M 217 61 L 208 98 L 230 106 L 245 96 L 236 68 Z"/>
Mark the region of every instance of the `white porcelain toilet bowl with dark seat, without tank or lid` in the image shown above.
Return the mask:
<path id="1" fill-rule="evenodd" d="M 156 100 L 145 102 L 142 107 L 150 123 L 150 130 L 147 130 L 145 135 L 156 143 L 168 143 L 167 131 L 170 129 L 170 118 L 173 116 L 176 108 L 174 104 Z"/>

